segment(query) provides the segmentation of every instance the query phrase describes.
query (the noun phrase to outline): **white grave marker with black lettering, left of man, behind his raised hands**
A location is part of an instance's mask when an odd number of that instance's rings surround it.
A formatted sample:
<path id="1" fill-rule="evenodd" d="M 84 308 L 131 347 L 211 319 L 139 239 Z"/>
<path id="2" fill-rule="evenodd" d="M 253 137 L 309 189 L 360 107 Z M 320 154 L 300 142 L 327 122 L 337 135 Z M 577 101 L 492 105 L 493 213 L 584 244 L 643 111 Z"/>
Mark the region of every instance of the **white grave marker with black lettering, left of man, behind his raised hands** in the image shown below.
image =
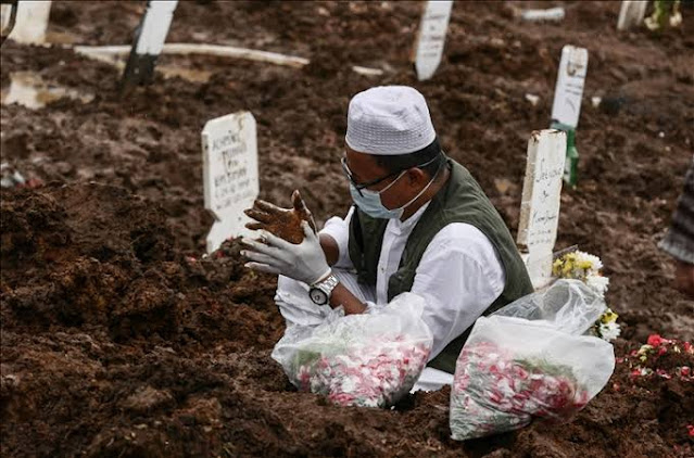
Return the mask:
<path id="1" fill-rule="evenodd" d="M 207 234 L 207 253 L 229 237 L 250 236 L 244 208 L 260 192 L 255 118 L 239 112 L 211 119 L 202 129 L 205 208 L 215 217 Z"/>

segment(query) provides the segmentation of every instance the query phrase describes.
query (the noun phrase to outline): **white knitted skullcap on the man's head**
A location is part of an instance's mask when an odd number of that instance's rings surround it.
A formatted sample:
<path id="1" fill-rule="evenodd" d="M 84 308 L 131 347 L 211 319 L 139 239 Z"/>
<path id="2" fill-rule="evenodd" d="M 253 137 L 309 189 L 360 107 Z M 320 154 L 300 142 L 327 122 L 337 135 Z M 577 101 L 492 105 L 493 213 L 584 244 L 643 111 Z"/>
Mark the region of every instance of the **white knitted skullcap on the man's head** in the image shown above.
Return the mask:
<path id="1" fill-rule="evenodd" d="M 408 86 L 379 86 L 350 101 L 344 140 L 352 150 L 374 155 L 408 154 L 437 137 L 424 96 Z"/>

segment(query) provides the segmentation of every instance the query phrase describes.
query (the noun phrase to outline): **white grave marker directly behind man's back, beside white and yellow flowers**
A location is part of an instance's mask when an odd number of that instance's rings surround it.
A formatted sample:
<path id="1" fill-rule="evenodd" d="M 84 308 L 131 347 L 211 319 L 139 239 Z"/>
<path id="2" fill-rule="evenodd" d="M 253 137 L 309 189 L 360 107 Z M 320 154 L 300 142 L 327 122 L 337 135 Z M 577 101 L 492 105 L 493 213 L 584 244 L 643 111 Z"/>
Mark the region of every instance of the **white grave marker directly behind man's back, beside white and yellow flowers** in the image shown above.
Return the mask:
<path id="1" fill-rule="evenodd" d="M 547 285 L 552 278 L 565 158 L 566 132 L 554 129 L 532 132 L 528 140 L 517 243 L 535 289 Z"/>

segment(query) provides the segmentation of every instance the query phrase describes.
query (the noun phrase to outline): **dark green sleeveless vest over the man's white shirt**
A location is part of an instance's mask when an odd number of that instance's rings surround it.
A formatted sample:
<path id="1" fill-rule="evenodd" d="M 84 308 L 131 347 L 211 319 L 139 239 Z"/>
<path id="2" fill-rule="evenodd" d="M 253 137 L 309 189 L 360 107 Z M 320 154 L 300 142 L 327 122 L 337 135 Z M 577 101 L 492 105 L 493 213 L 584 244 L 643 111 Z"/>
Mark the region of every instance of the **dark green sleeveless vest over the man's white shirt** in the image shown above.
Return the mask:
<path id="1" fill-rule="evenodd" d="M 447 161 L 451 176 L 430 201 L 415 225 L 400 260 L 400 267 L 388 281 L 388 301 L 408 292 L 415 280 L 419 260 L 429 242 L 445 226 L 466 222 L 479 229 L 496 249 L 506 272 L 502 294 L 484 310 L 489 315 L 518 297 L 533 292 L 528 271 L 503 219 L 470 173 L 453 160 Z M 356 208 L 350 222 L 350 258 L 356 268 L 359 283 L 376 287 L 377 266 L 388 219 L 373 218 Z M 455 361 L 471 327 L 454 339 L 429 367 L 455 372 Z"/>

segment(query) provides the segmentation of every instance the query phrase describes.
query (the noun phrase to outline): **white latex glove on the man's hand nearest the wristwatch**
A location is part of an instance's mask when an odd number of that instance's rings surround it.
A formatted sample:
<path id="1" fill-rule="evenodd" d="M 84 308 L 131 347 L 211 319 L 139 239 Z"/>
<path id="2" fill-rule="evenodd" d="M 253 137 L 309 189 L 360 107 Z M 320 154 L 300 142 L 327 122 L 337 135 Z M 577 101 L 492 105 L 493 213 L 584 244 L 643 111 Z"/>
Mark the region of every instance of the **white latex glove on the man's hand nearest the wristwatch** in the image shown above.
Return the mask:
<path id="1" fill-rule="evenodd" d="M 251 259 L 245 267 L 262 272 L 283 275 L 306 284 L 313 284 L 327 277 L 330 273 L 330 266 L 320 246 L 318 234 L 306 221 L 302 221 L 301 227 L 305 237 L 300 244 L 290 243 L 267 231 L 263 231 L 261 236 L 266 244 L 242 239 L 242 243 L 250 249 L 241 252 L 242 256 Z"/>

